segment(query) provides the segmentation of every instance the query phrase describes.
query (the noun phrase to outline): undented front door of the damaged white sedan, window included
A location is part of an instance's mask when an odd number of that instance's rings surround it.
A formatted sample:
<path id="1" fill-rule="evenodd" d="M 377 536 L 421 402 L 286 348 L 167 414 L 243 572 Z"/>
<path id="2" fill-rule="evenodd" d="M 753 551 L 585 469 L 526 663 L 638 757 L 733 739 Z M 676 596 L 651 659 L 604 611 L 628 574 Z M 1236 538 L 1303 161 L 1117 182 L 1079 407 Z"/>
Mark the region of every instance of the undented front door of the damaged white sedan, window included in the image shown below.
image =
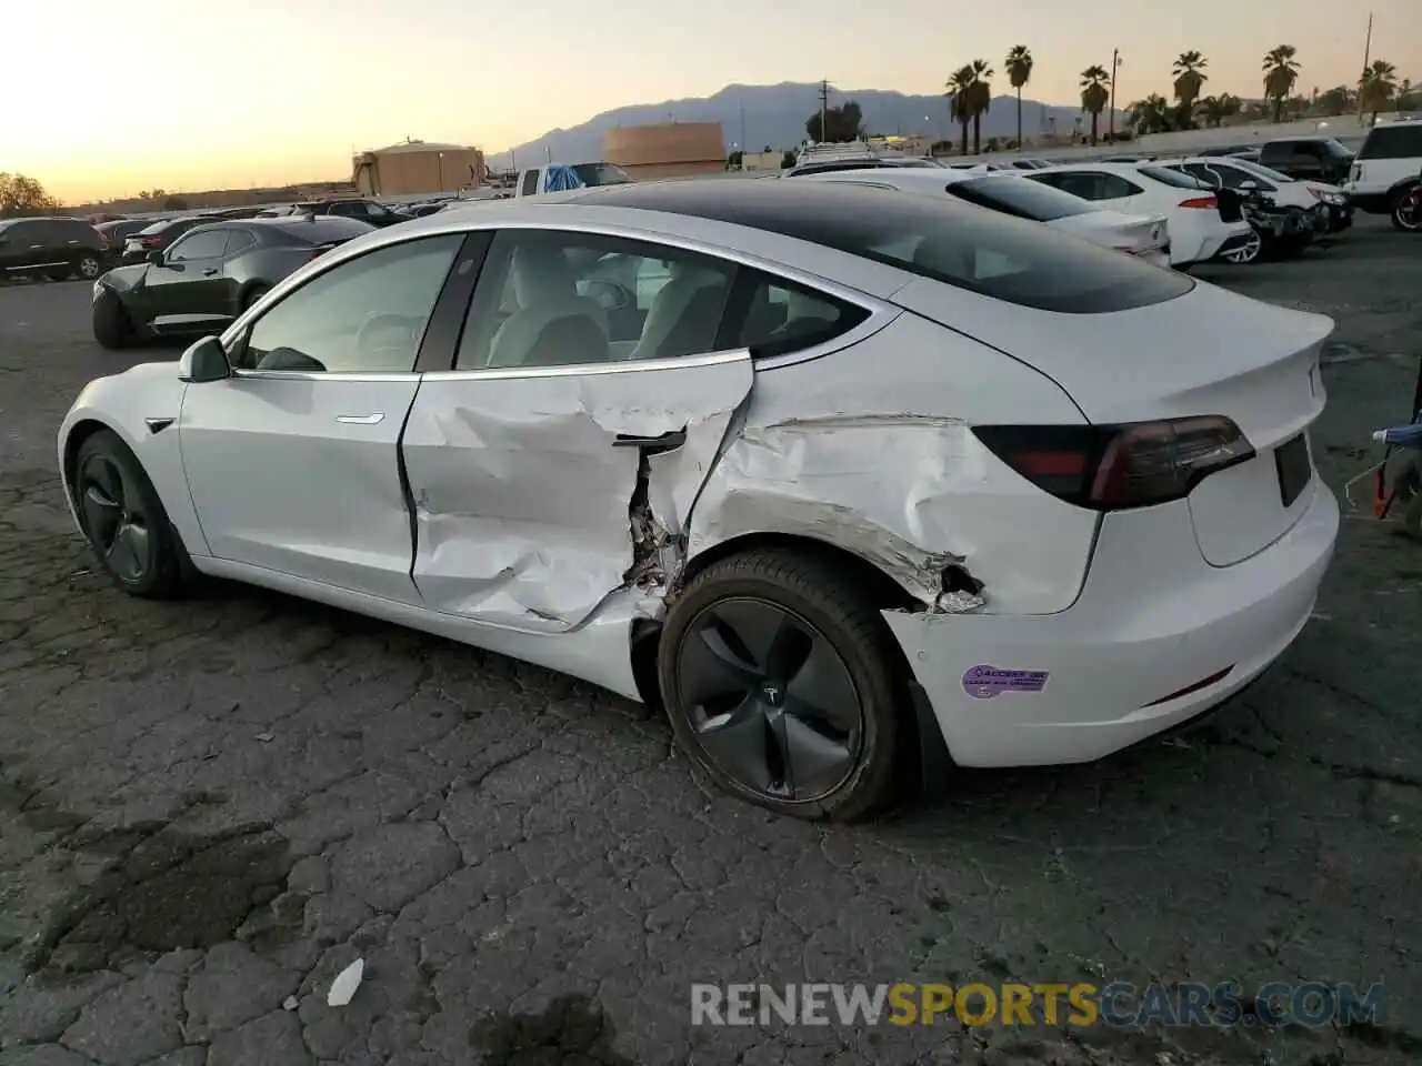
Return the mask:
<path id="1" fill-rule="evenodd" d="M 418 603 L 400 432 L 462 235 L 380 247 L 283 296 L 192 384 L 179 441 L 218 559 Z"/>

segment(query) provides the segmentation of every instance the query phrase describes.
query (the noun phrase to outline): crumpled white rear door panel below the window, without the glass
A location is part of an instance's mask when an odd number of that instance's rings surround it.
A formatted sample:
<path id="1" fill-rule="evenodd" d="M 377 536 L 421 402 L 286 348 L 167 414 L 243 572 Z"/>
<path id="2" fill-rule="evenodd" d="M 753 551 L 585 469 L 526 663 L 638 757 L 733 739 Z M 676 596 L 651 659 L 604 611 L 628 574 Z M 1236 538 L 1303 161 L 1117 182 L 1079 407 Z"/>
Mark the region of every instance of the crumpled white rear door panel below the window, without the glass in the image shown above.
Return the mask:
<path id="1" fill-rule="evenodd" d="M 421 597 L 559 632 L 654 588 L 752 382 L 747 351 L 425 375 L 402 442 Z"/>

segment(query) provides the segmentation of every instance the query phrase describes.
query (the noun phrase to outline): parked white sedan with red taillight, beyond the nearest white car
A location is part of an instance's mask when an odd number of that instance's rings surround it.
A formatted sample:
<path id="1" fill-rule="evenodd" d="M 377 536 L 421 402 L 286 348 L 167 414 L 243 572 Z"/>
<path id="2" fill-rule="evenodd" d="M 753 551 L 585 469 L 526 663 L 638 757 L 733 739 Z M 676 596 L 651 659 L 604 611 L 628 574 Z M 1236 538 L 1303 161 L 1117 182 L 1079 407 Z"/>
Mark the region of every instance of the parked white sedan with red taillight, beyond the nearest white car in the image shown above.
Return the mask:
<path id="1" fill-rule="evenodd" d="M 1175 267 L 1207 263 L 1258 242 L 1244 216 L 1221 208 L 1213 189 L 1149 162 L 1069 163 L 1024 171 L 1022 176 L 1101 208 L 1165 215 L 1170 226 L 1170 264 Z"/>

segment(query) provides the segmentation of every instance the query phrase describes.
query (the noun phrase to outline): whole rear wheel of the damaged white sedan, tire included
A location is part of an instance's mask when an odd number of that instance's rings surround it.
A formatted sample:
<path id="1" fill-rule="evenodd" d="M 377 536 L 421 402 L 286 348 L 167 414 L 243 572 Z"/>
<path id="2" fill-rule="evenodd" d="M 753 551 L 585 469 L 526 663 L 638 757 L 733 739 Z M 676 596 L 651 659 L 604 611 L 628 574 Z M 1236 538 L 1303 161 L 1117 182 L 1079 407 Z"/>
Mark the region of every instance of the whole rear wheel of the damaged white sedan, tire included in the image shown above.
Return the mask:
<path id="1" fill-rule="evenodd" d="M 774 641 L 755 638 L 772 631 Z M 815 706 L 833 705 L 833 722 L 796 695 L 812 652 Z M 833 564 L 786 549 L 729 556 L 697 574 L 671 608 L 657 661 L 677 742 L 721 789 L 779 814 L 830 822 L 873 817 L 902 795 L 912 738 L 902 718 L 906 669 L 866 591 Z M 734 675 L 744 688 L 727 695 L 712 675 Z M 822 760 L 819 776 L 796 782 L 792 759 L 811 755 Z"/>

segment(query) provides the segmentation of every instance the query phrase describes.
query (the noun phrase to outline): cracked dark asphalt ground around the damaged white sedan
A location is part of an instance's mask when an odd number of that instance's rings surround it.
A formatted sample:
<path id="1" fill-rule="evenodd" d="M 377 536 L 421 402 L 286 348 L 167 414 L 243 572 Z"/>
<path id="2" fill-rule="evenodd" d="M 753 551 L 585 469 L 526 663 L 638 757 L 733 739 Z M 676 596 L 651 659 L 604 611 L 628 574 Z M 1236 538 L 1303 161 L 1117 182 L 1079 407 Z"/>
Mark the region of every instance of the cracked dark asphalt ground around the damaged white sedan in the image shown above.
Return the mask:
<path id="1" fill-rule="evenodd" d="M 1315 449 L 1340 489 L 1405 418 L 1422 239 L 1364 219 L 1204 276 L 1338 321 Z M 88 297 L 0 289 L 4 1066 L 1422 1056 L 1422 546 L 1368 513 L 1281 665 L 1192 731 L 799 824 L 542 669 L 252 588 L 121 596 L 71 529 L 54 432 L 87 379 L 178 352 L 104 352 Z M 1382 981 L 1389 1011 L 1273 1032 L 690 1019 L 693 982 L 974 978 Z"/>

